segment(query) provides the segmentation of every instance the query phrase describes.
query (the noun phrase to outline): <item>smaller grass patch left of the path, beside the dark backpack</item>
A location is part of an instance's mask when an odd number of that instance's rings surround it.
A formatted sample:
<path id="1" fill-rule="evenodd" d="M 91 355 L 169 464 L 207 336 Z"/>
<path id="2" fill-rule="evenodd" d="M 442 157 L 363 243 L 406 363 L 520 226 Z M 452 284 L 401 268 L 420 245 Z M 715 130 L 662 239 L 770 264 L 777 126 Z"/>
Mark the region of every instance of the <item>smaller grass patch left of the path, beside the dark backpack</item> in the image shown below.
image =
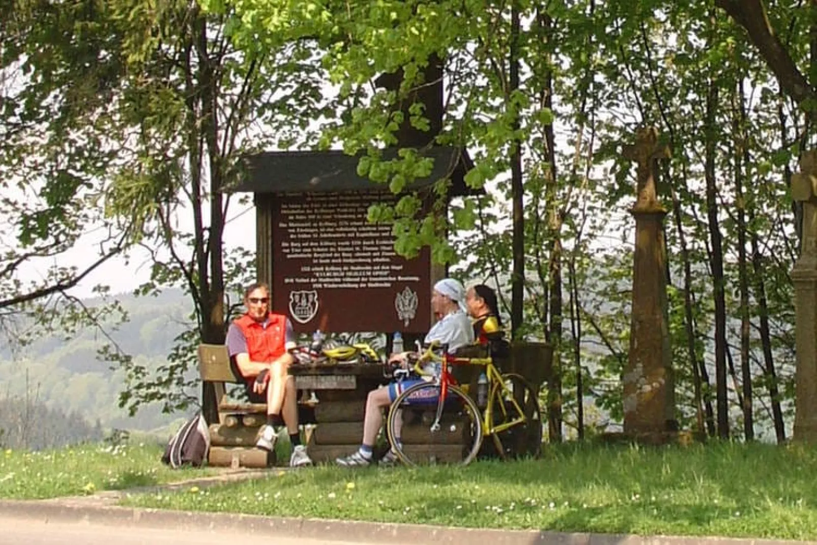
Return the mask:
<path id="1" fill-rule="evenodd" d="M 83 444 L 42 452 L 0 450 L 0 498 L 58 498 L 208 475 L 200 469 L 169 469 L 160 461 L 162 450 L 153 443 Z"/>

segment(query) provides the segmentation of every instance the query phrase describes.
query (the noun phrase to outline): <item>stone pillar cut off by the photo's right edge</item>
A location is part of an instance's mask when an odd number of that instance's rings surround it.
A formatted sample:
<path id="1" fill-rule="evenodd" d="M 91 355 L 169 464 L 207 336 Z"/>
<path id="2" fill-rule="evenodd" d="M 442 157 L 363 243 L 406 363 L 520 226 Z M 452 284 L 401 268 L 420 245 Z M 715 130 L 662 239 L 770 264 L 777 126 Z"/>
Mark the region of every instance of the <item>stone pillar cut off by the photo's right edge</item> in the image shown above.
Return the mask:
<path id="1" fill-rule="evenodd" d="M 806 151 L 792 176 L 792 199 L 803 203 L 800 257 L 792 270 L 796 314 L 794 439 L 817 443 L 817 150 Z"/>

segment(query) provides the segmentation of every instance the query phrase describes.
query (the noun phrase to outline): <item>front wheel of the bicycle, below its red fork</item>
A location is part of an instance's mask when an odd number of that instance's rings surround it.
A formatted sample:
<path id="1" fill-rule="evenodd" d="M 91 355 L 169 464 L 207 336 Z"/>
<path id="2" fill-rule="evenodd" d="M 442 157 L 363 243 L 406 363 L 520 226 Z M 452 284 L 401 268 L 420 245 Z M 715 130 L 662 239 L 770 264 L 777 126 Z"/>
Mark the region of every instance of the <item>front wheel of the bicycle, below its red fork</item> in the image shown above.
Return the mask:
<path id="1" fill-rule="evenodd" d="M 482 442 L 480 409 L 457 386 L 449 386 L 440 406 L 440 385 L 422 382 L 391 404 L 386 435 L 407 466 L 440 462 L 467 465 Z"/>

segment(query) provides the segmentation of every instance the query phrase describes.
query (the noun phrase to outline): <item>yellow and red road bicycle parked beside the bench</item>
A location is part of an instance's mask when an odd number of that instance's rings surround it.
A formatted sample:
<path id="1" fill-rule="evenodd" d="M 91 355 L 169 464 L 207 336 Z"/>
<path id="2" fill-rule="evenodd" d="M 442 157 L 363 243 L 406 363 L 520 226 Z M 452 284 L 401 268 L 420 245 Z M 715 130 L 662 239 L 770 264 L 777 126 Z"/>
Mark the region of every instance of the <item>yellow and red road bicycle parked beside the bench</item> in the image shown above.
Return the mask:
<path id="1" fill-rule="evenodd" d="M 538 456 L 542 448 L 542 413 L 534 388 L 517 373 L 500 373 L 488 352 L 486 357 L 449 355 L 447 346 L 433 342 L 413 364 L 417 375 L 430 374 L 423 365 L 436 365 L 439 373 L 400 393 L 386 419 L 386 436 L 401 462 L 416 466 L 419 459 L 471 463 L 486 437 L 501 458 L 509 455 Z M 441 351 L 442 355 L 436 354 Z M 451 366 L 484 367 L 488 399 L 484 410 L 453 379 Z M 404 429 L 404 413 L 426 409 L 422 423 Z M 433 414 L 428 414 L 433 409 Z M 405 433 L 413 431 L 412 433 Z M 427 433 L 426 433 L 427 431 Z"/>

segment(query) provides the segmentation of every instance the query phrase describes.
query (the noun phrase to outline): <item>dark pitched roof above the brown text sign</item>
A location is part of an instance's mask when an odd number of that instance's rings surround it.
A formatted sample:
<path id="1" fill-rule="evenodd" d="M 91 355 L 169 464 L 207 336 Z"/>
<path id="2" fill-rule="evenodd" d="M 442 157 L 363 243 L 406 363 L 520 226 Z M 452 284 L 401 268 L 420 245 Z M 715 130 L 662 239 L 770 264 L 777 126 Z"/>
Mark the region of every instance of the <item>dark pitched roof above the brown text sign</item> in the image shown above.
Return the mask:
<path id="1" fill-rule="evenodd" d="M 394 159 L 396 150 L 384 150 L 384 159 Z M 422 152 L 434 159 L 430 176 L 417 179 L 408 190 L 418 190 L 448 177 L 452 182 L 451 196 L 482 194 L 465 184 L 465 173 L 473 168 L 467 153 L 458 148 L 433 147 Z M 357 173 L 359 155 L 346 155 L 340 150 L 328 151 L 268 151 L 247 157 L 248 175 L 229 193 L 313 193 L 322 191 L 387 190 Z"/>

